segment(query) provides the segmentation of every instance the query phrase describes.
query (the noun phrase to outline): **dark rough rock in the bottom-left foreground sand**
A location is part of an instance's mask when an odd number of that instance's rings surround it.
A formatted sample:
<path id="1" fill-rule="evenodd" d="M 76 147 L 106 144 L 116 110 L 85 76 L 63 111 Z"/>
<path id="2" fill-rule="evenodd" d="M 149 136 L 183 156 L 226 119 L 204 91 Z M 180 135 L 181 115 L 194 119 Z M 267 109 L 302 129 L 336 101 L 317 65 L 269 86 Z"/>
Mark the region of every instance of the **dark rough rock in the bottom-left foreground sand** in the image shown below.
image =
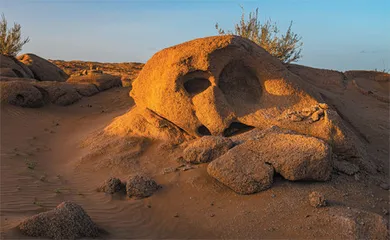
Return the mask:
<path id="1" fill-rule="evenodd" d="M 51 211 L 24 220 L 19 229 L 27 236 L 53 239 L 99 236 L 98 227 L 84 209 L 72 202 L 63 202 Z"/>

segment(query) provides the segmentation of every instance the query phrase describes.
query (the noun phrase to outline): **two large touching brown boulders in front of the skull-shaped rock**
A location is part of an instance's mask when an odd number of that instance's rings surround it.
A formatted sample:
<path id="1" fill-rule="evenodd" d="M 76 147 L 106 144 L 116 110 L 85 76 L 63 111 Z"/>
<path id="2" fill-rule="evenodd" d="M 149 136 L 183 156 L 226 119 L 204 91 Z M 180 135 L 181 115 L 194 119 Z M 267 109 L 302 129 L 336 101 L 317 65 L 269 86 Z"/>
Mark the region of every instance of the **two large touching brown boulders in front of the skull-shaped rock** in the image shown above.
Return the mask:
<path id="1" fill-rule="evenodd" d="M 274 170 L 291 181 L 330 179 L 332 152 L 324 141 L 277 127 L 253 130 L 246 137 L 207 168 L 235 192 L 251 194 L 269 188 Z"/>

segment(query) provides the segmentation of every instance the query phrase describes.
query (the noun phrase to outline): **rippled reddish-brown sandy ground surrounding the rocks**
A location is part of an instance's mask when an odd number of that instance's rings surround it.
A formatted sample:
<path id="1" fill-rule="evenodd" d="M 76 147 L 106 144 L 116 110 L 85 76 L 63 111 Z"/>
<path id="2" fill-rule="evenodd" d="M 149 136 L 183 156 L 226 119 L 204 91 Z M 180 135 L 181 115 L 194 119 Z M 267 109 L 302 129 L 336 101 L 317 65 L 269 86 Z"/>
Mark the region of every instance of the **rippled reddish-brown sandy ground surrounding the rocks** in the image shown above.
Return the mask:
<path id="1" fill-rule="evenodd" d="M 91 134 L 133 106 L 128 88 L 114 88 L 67 106 L 1 109 L 1 237 L 23 238 L 17 224 L 64 200 L 80 204 L 108 234 L 125 238 L 363 238 L 376 231 L 376 213 L 385 218 L 389 191 L 389 108 L 362 95 L 351 83 L 341 93 L 320 90 L 364 139 L 380 165 L 375 176 L 334 172 L 329 182 L 289 182 L 280 176 L 272 188 L 242 196 L 216 182 L 206 165 L 165 173 L 180 165 L 175 149 L 148 143 L 144 154 L 121 167 L 101 166 L 80 147 Z M 103 152 L 110 157 L 110 152 Z M 115 156 L 113 156 L 115 157 Z M 98 157 L 101 159 L 101 156 Z M 144 172 L 163 186 L 153 196 L 125 199 L 97 192 L 108 177 L 125 179 Z M 313 208 L 308 194 L 320 191 L 328 207 Z M 368 211 L 370 213 L 365 213 Z M 353 213 L 358 218 L 351 217 Z"/>

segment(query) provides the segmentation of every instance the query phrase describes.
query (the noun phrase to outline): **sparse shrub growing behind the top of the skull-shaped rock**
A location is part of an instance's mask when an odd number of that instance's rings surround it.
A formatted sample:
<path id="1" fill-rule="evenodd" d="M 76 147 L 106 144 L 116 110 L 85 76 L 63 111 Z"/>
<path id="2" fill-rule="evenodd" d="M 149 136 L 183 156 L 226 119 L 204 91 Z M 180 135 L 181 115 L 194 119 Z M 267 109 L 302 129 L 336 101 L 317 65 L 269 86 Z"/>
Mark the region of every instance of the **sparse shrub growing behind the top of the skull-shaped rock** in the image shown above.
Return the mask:
<path id="1" fill-rule="evenodd" d="M 302 57 L 302 38 L 291 30 L 292 21 L 286 33 L 279 36 L 280 31 L 275 22 L 269 19 L 261 23 L 258 20 L 258 8 L 255 12 L 249 13 L 248 20 L 245 19 L 244 8 L 241 9 L 241 20 L 235 25 L 234 32 L 225 31 L 216 23 L 215 28 L 219 34 L 234 34 L 248 38 L 284 63 L 295 62 Z"/>

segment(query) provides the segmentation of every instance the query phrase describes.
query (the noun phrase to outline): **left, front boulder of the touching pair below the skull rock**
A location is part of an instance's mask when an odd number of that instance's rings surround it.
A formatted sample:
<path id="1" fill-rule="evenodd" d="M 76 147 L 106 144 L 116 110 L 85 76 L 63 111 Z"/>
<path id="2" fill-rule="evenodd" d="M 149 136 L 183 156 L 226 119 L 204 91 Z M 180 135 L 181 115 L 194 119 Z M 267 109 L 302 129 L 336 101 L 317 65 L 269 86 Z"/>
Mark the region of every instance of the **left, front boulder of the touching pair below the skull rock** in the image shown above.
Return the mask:
<path id="1" fill-rule="evenodd" d="M 252 194 L 270 188 L 274 169 L 259 154 L 239 145 L 212 161 L 207 172 L 238 194 Z"/>

